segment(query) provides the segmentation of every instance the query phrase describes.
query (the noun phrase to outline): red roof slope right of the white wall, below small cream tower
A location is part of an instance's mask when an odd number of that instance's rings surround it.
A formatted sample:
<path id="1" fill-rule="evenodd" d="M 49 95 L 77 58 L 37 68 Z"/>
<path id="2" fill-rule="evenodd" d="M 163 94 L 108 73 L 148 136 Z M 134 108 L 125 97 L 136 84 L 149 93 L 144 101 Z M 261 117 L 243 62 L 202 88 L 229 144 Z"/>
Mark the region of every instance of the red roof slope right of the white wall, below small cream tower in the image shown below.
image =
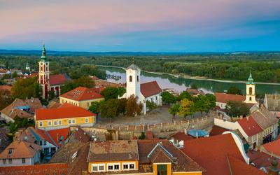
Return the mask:
<path id="1" fill-rule="evenodd" d="M 258 123 L 255 122 L 255 120 L 251 116 L 242 118 L 237 122 L 242 127 L 244 132 L 248 135 L 248 137 L 262 132 L 262 128 L 258 125 Z"/>

